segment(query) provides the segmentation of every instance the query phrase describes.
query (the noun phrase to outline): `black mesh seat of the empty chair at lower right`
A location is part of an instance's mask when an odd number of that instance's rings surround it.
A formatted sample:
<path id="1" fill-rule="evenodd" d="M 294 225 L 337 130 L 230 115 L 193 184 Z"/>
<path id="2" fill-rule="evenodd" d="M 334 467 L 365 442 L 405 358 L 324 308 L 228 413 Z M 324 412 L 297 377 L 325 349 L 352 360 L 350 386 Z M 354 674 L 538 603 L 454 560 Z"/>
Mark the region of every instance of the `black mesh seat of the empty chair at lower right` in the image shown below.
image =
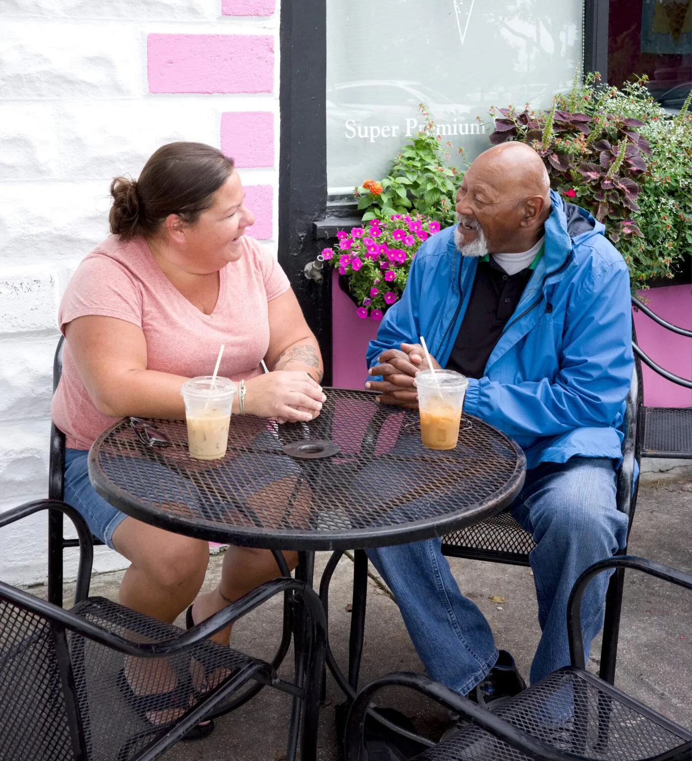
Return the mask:
<path id="1" fill-rule="evenodd" d="M 560 669 L 496 709 L 497 715 L 566 753 L 635 761 L 661 756 L 692 734 L 592 677 Z M 416 761 L 530 761 L 490 732 L 467 724 Z"/>

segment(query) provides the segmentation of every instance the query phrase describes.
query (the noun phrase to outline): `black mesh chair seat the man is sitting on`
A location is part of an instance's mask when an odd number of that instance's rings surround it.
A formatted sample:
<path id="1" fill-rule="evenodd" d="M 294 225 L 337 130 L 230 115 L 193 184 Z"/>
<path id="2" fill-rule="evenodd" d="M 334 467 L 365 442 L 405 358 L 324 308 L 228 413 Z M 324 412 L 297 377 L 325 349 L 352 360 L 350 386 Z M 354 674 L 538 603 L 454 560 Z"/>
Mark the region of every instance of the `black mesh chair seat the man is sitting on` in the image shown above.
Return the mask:
<path id="1" fill-rule="evenodd" d="M 536 546 L 508 511 L 442 537 L 444 555 L 528 565 Z"/>

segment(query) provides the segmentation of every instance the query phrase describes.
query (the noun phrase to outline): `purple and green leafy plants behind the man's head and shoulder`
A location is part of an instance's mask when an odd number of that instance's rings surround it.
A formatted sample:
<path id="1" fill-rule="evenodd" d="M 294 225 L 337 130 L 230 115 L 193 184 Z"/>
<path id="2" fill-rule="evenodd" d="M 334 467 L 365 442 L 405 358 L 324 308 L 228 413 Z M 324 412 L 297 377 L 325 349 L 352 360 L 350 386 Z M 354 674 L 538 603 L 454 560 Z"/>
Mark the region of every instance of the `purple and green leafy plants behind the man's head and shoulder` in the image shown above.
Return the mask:
<path id="1" fill-rule="evenodd" d="M 646 78 L 622 89 L 577 76 L 550 110 L 493 109 L 490 142 L 521 140 L 541 154 L 550 185 L 588 209 L 630 267 L 633 288 L 672 277 L 692 253 L 692 115 L 671 117 Z"/>

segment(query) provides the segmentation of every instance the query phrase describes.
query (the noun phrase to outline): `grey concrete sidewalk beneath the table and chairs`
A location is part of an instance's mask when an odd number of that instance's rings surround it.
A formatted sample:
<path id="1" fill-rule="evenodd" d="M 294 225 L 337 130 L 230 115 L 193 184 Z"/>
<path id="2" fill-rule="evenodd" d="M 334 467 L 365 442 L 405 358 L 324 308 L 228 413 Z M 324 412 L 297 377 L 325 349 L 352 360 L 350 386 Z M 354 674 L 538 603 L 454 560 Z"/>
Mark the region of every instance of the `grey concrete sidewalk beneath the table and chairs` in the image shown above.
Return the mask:
<path id="1" fill-rule="evenodd" d="M 692 480 L 649 476 L 639 491 L 630 553 L 692 572 Z M 316 585 L 328 553 L 316 560 Z M 483 610 L 493 627 L 498 647 L 514 654 L 521 673 L 528 675 L 539 629 L 533 579 L 528 568 L 451 559 L 459 586 Z M 218 581 L 221 557 L 212 557 L 206 587 Z M 372 567 L 371 567 L 372 569 Z M 117 599 L 121 573 L 94 577 L 91 594 Z M 352 562 L 343 558 L 330 589 L 330 642 L 338 661 L 346 667 L 352 588 Z M 33 587 L 34 594 L 45 594 Z M 491 597 L 504 597 L 494 603 Z M 260 658 L 271 658 L 279 642 L 281 602 L 275 600 L 238 622 L 234 648 Z M 178 622 L 184 626 L 182 619 Z M 600 641 L 593 648 L 589 668 L 598 670 Z M 596 656 L 596 657 L 594 657 Z M 291 678 L 291 654 L 282 675 Z M 371 581 L 361 684 L 394 670 L 422 671 L 404 629 L 399 610 L 381 587 Z M 690 595 L 679 587 L 636 575 L 626 576 L 617 686 L 636 699 L 692 729 L 692 606 Z M 331 677 L 327 702 L 320 715 L 319 759 L 335 761 L 334 706 L 343 701 Z M 391 705 L 409 715 L 423 734 L 438 735 L 448 715 L 413 693 L 392 694 Z M 179 743 L 165 754 L 167 761 L 279 761 L 285 750 L 290 701 L 276 690 L 263 691 L 238 711 L 217 719 L 206 740 Z"/>

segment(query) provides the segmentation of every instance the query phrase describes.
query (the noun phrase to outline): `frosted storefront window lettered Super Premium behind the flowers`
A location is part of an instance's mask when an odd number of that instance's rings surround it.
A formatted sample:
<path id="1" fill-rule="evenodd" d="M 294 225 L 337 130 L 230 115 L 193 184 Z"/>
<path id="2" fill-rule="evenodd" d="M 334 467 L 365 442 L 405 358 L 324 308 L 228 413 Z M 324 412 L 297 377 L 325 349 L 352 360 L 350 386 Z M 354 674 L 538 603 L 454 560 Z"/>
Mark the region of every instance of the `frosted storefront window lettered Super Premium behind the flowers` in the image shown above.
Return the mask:
<path id="1" fill-rule="evenodd" d="M 582 62 L 582 6 L 327 0 L 330 194 L 387 174 L 397 149 L 421 126 L 419 103 L 454 146 L 453 158 L 462 147 L 468 161 L 488 147 L 491 106 L 550 106 Z"/>

